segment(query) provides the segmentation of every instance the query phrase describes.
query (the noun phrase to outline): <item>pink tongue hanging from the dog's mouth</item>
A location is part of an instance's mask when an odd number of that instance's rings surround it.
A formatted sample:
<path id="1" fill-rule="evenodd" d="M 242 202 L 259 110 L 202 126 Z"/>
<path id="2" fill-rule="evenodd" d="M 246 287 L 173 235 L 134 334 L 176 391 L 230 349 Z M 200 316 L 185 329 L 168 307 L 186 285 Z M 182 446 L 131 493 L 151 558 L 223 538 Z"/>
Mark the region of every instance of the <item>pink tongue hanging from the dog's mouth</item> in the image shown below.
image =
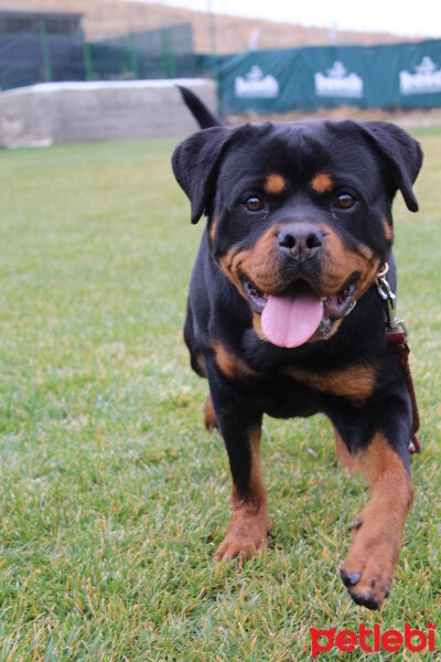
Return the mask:
<path id="1" fill-rule="evenodd" d="M 261 314 L 262 331 L 279 348 L 298 348 L 313 335 L 323 317 L 323 302 L 312 295 L 269 296 Z"/>

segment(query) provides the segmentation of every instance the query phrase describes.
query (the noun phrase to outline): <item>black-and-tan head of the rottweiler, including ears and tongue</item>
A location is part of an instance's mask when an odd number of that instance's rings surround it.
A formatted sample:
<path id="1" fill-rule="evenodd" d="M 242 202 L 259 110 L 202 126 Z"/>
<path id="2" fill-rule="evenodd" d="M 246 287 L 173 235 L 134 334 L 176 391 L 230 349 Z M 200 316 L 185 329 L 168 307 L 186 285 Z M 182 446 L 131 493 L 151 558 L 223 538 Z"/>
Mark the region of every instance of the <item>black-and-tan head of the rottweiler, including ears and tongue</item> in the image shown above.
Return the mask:
<path id="1" fill-rule="evenodd" d="M 391 248 L 391 203 L 409 210 L 422 162 L 387 122 L 266 122 L 200 131 L 173 154 L 192 222 L 279 346 L 330 338 Z"/>

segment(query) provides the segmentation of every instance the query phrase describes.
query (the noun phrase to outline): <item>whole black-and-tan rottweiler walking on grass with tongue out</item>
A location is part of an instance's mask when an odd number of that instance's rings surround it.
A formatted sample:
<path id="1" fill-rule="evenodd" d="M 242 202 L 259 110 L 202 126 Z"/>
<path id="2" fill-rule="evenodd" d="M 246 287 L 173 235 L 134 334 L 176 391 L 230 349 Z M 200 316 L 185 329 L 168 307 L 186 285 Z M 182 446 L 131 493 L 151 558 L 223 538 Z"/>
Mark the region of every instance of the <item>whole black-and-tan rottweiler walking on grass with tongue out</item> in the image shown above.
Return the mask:
<path id="1" fill-rule="evenodd" d="M 321 412 L 338 458 L 370 487 L 341 577 L 356 604 L 378 609 L 413 490 L 411 402 L 376 281 L 388 265 L 396 289 L 391 205 L 399 190 L 418 211 L 421 148 L 383 121 L 227 127 L 181 93 L 203 130 L 175 149 L 173 171 L 192 223 L 206 216 L 184 339 L 208 380 L 205 424 L 224 438 L 233 477 L 233 514 L 214 559 L 243 562 L 272 535 L 263 414 Z"/>

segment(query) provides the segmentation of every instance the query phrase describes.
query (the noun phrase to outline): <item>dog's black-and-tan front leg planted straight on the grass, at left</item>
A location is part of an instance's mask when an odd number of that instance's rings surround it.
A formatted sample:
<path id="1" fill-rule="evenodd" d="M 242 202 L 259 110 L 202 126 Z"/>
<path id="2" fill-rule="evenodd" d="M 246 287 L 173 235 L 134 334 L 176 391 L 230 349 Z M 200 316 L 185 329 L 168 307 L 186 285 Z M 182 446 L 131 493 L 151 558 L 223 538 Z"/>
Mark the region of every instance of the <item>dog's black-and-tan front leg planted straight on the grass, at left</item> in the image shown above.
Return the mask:
<path id="1" fill-rule="evenodd" d="M 262 414 L 217 378 L 209 378 L 209 387 L 233 478 L 233 514 L 214 560 L 238 557 L 241 564 L 267 546 L 270 528 L 260 473 Z"/>

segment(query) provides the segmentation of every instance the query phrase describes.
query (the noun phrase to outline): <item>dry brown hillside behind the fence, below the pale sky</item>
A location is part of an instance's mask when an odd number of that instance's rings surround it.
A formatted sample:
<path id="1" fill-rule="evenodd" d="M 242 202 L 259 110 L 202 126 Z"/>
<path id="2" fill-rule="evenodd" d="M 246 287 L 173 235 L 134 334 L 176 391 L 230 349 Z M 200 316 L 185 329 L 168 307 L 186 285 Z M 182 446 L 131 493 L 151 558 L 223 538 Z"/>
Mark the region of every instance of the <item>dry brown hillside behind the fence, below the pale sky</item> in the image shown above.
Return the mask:
<path id="1" fill-rule="evenodd" d="M 208 18 L 205 12 L 195 12 L 152 2 L 130 0 L 0 0 L 0 8 L 34 9 L 82 13 L 88 40 L 141 32 L 176 23 L 192 23 L 194 47 L 198 53 L 211 51 Z M 259 49 L 290 49 L 301 45 L 326 44 L 329 30 L 303 28 L 291 23 L 277 23 L 257 19 L 216 15 L 216 47 L 219 53 L 246 51 L 251 39 L 258 39 Z M 404 41 L 405 38 L 388 33 L 348 32 L 338 33 L 344 44 L 379 44 Z"/>

